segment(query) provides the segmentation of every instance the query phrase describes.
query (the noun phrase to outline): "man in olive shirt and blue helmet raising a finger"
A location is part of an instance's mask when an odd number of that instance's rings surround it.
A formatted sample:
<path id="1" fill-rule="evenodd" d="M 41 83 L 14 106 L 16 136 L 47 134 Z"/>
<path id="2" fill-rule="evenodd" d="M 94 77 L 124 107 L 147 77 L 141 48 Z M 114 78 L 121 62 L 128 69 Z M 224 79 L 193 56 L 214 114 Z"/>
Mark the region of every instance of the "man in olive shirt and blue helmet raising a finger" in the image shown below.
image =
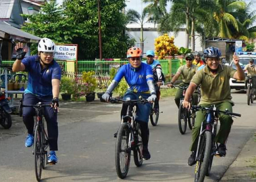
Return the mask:
<path id="1" fill-rule="evenodd" d="M 190 108 L 191 104 L 188 102 L 193 91 L 199 84 L 201 84 L 202 100 L 200 105 L 209 107 L 215 104 L 221 111 L 228 109 L 232 112 L 232 106 L 234 105 L 231 101 L 229 78 L 244 80 L 244 70 L 242 70 L 239 64 L 238 56 L 233 56 L 233 62 L 236 65 L 237 70 L 232 67 L 220 64 L 219 57 L 221 51 L 217 47 L 208 47 L 204 50 L 204 57 L 206 58 L 206 64 L 202 70 L 196 72 L 191 80 L 191 84 L 185 94 L 184 102 L 182 103 L 185 108 Z M 195 164 L 197 142 L 200 132 L 201 123 L 205 121 L 206 112 L 196 112 L 196 122 L 192 130 L 192 145 L 190 150 L 192 154 L 188 159 L 188 165 L 192 166 Z M 226 141 L 231 129 L 233 120 L 228 115 L 220 115 L 219 120 L 221 123 L 219 132 L 215 138 L 216 142 L 220 145 L 217 149 L 217 154 L 225 157 L 226 155 Z"/>

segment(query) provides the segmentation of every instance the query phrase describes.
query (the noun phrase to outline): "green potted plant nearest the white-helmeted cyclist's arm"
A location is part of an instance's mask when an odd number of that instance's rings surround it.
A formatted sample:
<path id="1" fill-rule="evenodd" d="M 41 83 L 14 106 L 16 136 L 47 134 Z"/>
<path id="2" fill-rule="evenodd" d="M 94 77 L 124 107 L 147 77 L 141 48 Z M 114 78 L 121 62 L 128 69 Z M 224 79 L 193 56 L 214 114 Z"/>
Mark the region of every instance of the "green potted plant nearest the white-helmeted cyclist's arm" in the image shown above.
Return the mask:
<path id="1" fill-rule="evenodd" d="M 72 86 L 73 86 L 73 84 L 72 84 L 72 80 L 70 78 L 68 78 L 67 76 L 63 76 L 63 78 L 61 78 L 60 91 L 63 92 L 63 94 L 61 94 L 61 98 L 63 100 L 71 99 L 71 94 L 73 93 Z"/>

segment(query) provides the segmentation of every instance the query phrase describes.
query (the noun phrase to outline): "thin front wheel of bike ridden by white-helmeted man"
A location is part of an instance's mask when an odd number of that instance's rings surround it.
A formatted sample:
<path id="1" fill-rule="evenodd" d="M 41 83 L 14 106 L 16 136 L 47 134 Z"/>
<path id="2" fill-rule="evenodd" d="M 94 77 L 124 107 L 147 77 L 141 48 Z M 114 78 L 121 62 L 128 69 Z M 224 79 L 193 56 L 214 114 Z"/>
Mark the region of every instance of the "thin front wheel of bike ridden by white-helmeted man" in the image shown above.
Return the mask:
<path id="1" fill-rule="evenodd" d="M 34 155 L 35 155 L 35 177 L 37 181 L 40 181 L 42 174 L 42 140 L 41 140 L 41 128 L 37 125 L 35 127 L 34 135 Z"/>

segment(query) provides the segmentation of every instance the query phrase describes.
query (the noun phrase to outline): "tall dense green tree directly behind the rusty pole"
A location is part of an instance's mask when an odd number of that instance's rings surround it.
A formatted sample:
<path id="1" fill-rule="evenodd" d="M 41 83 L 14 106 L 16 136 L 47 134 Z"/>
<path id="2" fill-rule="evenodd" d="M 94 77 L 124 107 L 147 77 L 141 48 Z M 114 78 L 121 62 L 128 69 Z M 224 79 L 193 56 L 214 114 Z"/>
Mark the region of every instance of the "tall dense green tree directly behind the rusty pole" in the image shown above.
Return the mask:
<path id="1" fill-rule="evenodd" d="M 123 0 L 101 0 L 101 30 L 103 58 L 124 58 L 134 44 L 125 33 L 127 19 L 122 13 Z M 73 38 L 79 44 L 79 58 L 99 58 L 98 7 L 95 0 L 64 0 L 64 13 L 81 32 Z"/>

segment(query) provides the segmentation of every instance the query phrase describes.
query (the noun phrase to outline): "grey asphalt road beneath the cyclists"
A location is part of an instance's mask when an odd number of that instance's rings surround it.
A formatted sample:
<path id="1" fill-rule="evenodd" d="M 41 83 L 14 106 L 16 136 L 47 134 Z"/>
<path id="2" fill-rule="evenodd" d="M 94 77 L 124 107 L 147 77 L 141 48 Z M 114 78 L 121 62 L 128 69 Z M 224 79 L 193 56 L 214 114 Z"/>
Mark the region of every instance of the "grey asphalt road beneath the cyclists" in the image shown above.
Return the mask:
<path id="1" fill-rule="evenodd" d="M 225 158 L 214 158 L 210 177 L 218 181 L 234 161 L 242 147 L 255 131 L 256 104 L 247 106 L 246 95 L 232 94 L 236 105 L 233 112 L 242 114 L 234 119 Z M 42 181 L 193 181 L 194 166 L 187 165 L 190 155 L 191 130 L 185 135 L 178 131 L 178 109 L 173 98 L 160 102 L 159 124 L 150 128 L 149 150 L 151 160 L 136 167 L 133 159 L 127 178 L 118 179 L 114 163 L 115 139 L 113 133 L 120 124 L 121 104 L 63 103 L 59 113 L 59 163 L 46 166 Z M 9 130 L 0 127 L 0 181 L 36 181 L 32 148 L 24 147 L 25 126 L 21 118 L 13 116 Z"/>

